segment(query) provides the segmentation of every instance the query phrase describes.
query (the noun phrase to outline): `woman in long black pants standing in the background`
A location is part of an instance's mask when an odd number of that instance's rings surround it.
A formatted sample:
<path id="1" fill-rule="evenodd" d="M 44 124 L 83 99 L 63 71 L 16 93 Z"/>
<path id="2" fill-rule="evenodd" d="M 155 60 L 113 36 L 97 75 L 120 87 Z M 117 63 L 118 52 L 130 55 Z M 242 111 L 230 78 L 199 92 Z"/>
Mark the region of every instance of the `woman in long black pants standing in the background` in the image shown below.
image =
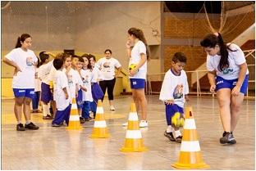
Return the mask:
<path id="1" fill-rule="evenodd" d="M 112 51 L 110 49 L 105 50 L 104 53 L 105 57 L 99 59 L 96 64 L 98 65 L 98 69 L 101 71 L 101 80 L 99 81 L 99 85 L 102 88 L 104 95 L 107 90 L 110 110 L 115 110 L 115 107 L 113 106 L 113 91 L 116 83 L 116 78 L 121 72 L 121 64 L 119 63 L 119 61 L 117 61 L 117 59 L 112 57 Z M 115 74 L 116 68 L 117 74 Z"/>

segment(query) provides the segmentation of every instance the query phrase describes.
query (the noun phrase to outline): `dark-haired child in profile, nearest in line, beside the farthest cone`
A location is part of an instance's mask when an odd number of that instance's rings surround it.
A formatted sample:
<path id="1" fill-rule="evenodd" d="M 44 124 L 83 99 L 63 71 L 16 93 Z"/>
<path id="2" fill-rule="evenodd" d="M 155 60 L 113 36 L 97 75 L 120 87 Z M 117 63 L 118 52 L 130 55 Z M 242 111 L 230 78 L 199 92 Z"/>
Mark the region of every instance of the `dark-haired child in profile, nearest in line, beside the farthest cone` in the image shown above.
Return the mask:
<path id="1" fill-rule="evenodd" d="M 62 54 L 62 56 L 65 58 L 66 54 Z M 62 58 L 53 60 L 53 66 L 57 70 L 53 81 L 53 93 L 57 106 L 57 112 L 52 123 L 53 127 L 61 126 L 64 120 L 68 125 L 71 113 L 71 92 L 68 86 L 66 73 L 62 71 L 63 63 Z"/>

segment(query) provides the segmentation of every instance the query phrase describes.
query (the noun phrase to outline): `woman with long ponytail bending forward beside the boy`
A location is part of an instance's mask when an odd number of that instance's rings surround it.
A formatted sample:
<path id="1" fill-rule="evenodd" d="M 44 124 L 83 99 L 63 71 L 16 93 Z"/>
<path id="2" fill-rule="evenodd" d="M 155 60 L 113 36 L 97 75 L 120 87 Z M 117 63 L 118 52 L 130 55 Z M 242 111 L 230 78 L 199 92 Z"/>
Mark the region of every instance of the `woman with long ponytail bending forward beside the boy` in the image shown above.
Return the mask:
<path id="1" fill-rule="evenodd" d="M 235 144 L 233 131 L 248 87 L 245 54 L 234 43 L 224 43 L 221 34 L 208 34 L 201 41 L 207 56 L 210 91 L 217 92 L 224 133 L 222 144 Z"/>

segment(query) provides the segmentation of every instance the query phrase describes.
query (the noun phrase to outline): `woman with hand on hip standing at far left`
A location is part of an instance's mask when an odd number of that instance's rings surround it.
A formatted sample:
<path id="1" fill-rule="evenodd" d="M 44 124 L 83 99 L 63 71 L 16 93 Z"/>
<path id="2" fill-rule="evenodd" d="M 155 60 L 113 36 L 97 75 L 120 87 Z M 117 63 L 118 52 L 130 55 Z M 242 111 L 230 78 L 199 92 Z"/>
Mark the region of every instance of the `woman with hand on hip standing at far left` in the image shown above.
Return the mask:
<path id="1" fill-rule="evenodd" d="M 22 34 L 17 39 L 16 48 L 2 60 L 15 68 L 12 88 L 15 96 L 14 113 L 17 120 L 17 131 L 25 131 L 25 128 L 39 129 L 30 121 L 30 102 L 34 98 L 34 73 L 38 63 L 34 52 L 30 50 L 31 44 L 30 34 Z M 25 127 L 21 124 L 22 107 L 25 115 Z"/>

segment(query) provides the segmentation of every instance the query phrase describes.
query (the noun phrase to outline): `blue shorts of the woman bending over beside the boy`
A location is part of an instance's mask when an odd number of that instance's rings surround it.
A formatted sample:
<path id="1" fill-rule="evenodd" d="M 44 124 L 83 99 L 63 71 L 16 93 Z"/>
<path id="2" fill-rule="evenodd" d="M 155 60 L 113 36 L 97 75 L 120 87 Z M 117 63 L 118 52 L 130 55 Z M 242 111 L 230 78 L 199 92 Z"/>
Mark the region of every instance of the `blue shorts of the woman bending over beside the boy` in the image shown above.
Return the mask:
<path id="1" fill-rule="evenodd" d="M 215 91 L 217 92 L 219 89 L 222 88 L 230 88 L 231 90 L 235 88 L 236 82 L 238 79 L 223 79 L 222 77 L 217 76 L 216 77 L 216 89 Z M 246 94 L 247 88 L 248 88 L 248 80 L 249 80 L 249 74 L 245 76 L 244 83 L 242 84 L 240 88 L 240 92 Z"/>

